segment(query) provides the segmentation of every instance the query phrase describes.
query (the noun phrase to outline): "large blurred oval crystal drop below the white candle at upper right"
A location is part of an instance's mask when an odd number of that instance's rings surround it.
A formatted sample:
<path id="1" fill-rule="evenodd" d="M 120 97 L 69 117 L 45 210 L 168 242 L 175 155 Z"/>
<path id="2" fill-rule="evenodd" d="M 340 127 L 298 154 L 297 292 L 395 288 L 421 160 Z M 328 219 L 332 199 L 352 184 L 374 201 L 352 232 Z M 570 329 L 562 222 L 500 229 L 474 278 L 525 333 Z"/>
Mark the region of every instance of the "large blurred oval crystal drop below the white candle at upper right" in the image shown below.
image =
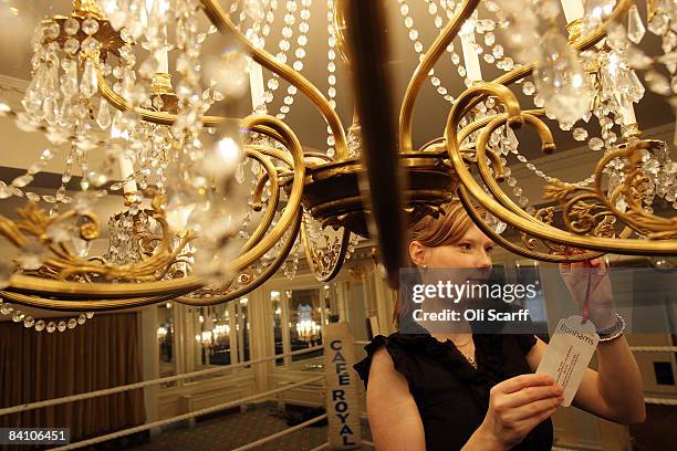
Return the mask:
<path id="1" fill-rule="evenodd" d="M 572 125 L 587 113 L 591 93 L 583 64 L 556 30 L 541 39 L 534 80 L 545 111 L 560 123 Z"/>

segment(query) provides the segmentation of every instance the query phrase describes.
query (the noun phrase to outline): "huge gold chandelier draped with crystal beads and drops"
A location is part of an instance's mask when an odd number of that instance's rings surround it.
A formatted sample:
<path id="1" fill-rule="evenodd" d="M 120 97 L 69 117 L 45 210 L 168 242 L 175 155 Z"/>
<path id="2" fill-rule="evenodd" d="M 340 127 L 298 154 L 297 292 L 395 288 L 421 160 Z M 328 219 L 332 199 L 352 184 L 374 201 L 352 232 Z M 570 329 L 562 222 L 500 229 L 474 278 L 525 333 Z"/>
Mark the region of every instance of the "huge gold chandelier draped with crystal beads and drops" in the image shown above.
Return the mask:
<path id="1" fill-rule="evenodd" d="M 385 70 L 385 2 L 326 0 L 326 96 L 301 74 L 311 3 L 243 0 L 225 9 L 217 0 L 75 0 L 70 15 L 44 20 L 32 40 L 22 109 L 0 105 L 19 128 L 43 133 L 53 145 L 24 175 L 0 182 L 0 198 L 27 198 L 19 220 L 0 217 L 0 235 L 19 252 L 2 269 L 0 296 L 73 312 L 167 300 L 212 305 L 283 266 L 292 275 L 301 248 L 315 276 L 329 281 L 369 232 L 395 284 L 402 250 L 392 243 L 404 241 L 403 212 L 438 214 L 454 196 L 488 235 L 532 259 L 677 254 L 677 217 L 653 209 L 677 208 L 677 164 L 668 144 L 642 138 L 634 111 L 645 91 L 640 75 L 673 105 L 677 98 L 674 0 L 647 2 L 648 30 L 662 40 L 655 55 L 637 45 L 646 29 L 629 0 L 428 0 L 438 35 L 427 50 L 409 4 L 397 0 L 419 57 L 397 125 Z M 272 55 L 265 40 L 282 6 L 280 52 Z M 211 23 L 206 31 L 202 14 Z M 212 39 L 226 50 L 207 52 L 202 44 Z M 169 51 L 178 53 L 171 73 Z M 347 132 L 334 109 L 337 53 L 350 63 L 357 96 Z M 446 53 L 467 85 L 457 96 L 435 72 Z M 504 74 L 483 80 L 480 55 Z M 267 86 L 262 67 L 271 75 Z M 289 88 L 273 116 L 280 78 Z M 427 78 L 450 112 L 441 136 L 415 148 L 414 105 Z M 534 108 L 522 109 L 520 85 Z M 254 114 L 232 116 L 249 87 Z M 296 93 L 326 120 L 325 153 L 304 153 L 284 122 Z M 601 136 L 589 136 L 581 124 L 590 120 L 600 123 Z M 555 150 L 553 129 L 571 130 L 598 153 L 596 168 L 580 182 L 544 174 L 520 153 L 519 127 L 533 128 L 545 154 Z M 70 150 L 58 191 L 24 190 L 63 144 Z M 100 168 L 91 167 L 92 153 L 104 156 Z M 543 197 L 554 207 L 531 206 L 508 158 L 544 180 Z M 71 196 L 66 183 L 76 169 L 81 191 Z M 108 218 L 108 251 L 90 255 L 87 244 L 100 238 L 97 199 L 116 192 L 124 206 Z M 479 216 L 478 204 L 490 218 Z M 506 239 L 506 227 L 521 242 Z"/>

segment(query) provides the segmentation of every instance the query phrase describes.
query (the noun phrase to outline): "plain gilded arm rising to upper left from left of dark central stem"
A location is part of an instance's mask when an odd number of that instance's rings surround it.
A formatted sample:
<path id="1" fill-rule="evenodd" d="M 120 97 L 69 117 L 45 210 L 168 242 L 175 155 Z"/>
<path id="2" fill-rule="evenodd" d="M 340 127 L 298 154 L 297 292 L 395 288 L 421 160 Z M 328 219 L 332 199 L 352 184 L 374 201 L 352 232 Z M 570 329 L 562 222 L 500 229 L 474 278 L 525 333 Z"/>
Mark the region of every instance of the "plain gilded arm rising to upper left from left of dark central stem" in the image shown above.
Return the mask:
<path id="1" fill-rule="evenodd" d="M 336 157 L 337 159 L 347 159 L 348 150 L 347 150 L 347 140 L 345 137 L 345 130 L 343 129 L 343 125 L 341 124 L 341 119 L 338 115 L 331 107 L 327 99 L 322 95 L 320 90 L 315 85 L 313 85 L 310 81 L 308 81 L 303 75 L 288 66 L 287 64 L 280 63 L 275 60 L 270 53 L 264 51 L 263 49 L 259 49 L 252 44 L 250 40 L 247 39 L 242 33 L 240 33 L 231 20 L 228 18 L 228 14 L 217 0 L 200 0 L 202 7 L 205 9 L 205 13 L 211 21 L 211 23 L 221 32 L 221 33 L 232 33 L 232 35 L 251 53 L 251 57 L 269 71 L 272 71 L 280 75 L 282 78 L 287 80 L 289 83 L 293 84 L 301 91 L 303 94 L 308 96 L 308 98 L 315 104 L 317 109 L 322 113 L 330 128 L 332 129 L 332 134 L 336 140 Z"/>

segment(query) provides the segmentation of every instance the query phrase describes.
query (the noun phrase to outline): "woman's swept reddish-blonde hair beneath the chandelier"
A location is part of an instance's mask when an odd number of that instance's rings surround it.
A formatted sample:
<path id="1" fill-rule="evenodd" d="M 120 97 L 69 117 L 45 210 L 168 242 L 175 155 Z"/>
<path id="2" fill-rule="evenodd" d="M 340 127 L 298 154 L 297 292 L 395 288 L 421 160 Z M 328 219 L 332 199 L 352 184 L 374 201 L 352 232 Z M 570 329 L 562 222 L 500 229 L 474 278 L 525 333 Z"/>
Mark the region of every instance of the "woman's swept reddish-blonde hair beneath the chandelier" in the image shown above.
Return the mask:
<path id="1" fill-rule="evenodd" d="M 485 214 L 483 209 L 475 207 L 480 214 Z M 437 216 L 426 214 L 409 224 L 409 235 L 407 238 L 407 262 L 409 268 L 416 268 L 409 254 L 409 244 L 413 241 L 418 241 L 426 248 L 437 248 L 440 245 L 450 245 L 459 242 L 466 232 L 473 224 L 470 216 L 464 208 L 464 204 L 458 199 L 454 199 L 440 207 L 440 212 Z M 400 290 L 403 291 L 403 290 Z M 409 290 L 404 290 L 409 292 Z M 400 314 L 406 314 L 412 310 L 412 301 L 400 298 L 399 293 L 395 293 L 395 308 L 393 312 L 393 322 L 398 324 Z"/>

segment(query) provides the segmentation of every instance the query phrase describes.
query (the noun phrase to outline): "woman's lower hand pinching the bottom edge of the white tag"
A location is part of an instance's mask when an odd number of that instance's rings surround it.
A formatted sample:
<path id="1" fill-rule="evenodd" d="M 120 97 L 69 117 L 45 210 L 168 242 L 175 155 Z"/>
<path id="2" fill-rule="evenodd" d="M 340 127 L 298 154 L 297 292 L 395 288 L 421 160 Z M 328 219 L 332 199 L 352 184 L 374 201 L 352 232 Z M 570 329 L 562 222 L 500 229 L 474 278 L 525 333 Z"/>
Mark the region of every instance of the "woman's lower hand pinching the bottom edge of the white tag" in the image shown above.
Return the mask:
<path id="1" fill-rule="evenodd" d="M 510 449 L 550 418 L 563 399 L 562 388 L 548 375 L 529 374 L 503 380 L 490 391 L 489 410 L 475 439 L 482 443 L 482 449 Z"/>

